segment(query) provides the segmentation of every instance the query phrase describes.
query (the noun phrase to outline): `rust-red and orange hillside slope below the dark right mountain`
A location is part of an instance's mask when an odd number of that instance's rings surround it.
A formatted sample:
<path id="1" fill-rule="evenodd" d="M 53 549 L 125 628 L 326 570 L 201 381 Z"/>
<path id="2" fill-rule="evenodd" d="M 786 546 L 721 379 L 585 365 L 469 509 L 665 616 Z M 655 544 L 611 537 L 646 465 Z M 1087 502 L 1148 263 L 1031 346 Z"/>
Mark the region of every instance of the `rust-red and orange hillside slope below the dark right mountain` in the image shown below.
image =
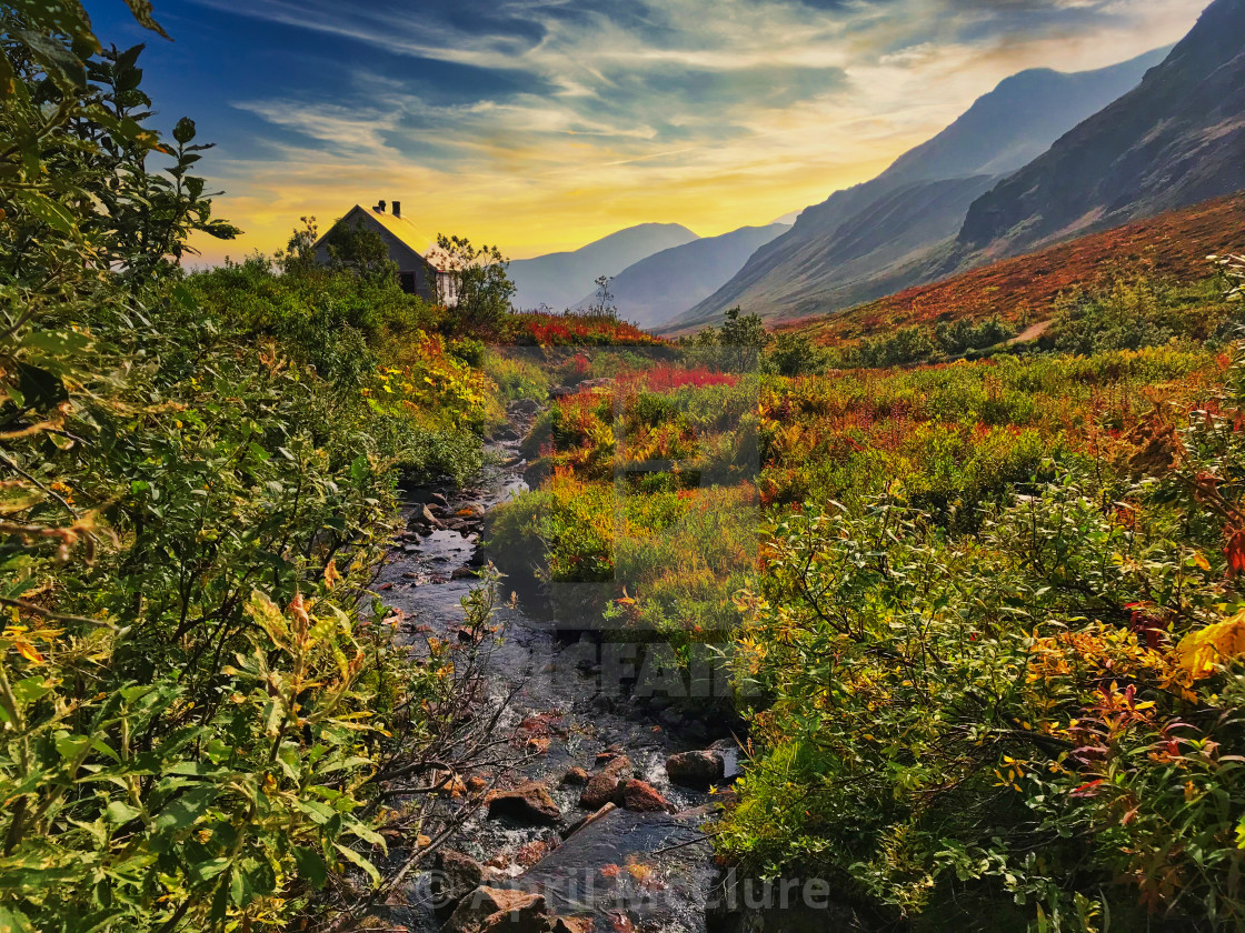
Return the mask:
<path id="1" fill-rule="evenodd" d="M 1006 259 L 844 313 L 794 321 L 784 330 L 838 343 L 905 325 L 984 321 L 996 315 L 1013 323 L 1033 323 L 1051 313 L 1051 302 L 1061 292 L 1092 289 L 1117 276 L 1144 272 L 1182 282 L 1203 279 L 1210 272 L 1206 256 L 1239 249 L 1243 236 L 1245 193 Z"/>

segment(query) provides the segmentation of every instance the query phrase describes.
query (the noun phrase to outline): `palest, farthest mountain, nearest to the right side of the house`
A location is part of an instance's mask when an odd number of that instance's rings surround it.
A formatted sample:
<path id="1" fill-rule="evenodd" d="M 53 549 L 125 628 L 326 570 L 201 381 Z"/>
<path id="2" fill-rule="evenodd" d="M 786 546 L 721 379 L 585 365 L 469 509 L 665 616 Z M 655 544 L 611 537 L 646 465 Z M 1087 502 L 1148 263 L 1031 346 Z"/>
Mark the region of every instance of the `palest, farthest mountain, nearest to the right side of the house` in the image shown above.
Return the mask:
<path id="1" fill-rule="evenodd" d="M 640 224 L 580 246 L 570 253 L 550 253 L 510 262 L 509 276 L 518 289 L 514 306 L 570 307 L 601 275 L 618 275 L 659 250 L 681 246 L 696 234 L 680 224 Z"/>

